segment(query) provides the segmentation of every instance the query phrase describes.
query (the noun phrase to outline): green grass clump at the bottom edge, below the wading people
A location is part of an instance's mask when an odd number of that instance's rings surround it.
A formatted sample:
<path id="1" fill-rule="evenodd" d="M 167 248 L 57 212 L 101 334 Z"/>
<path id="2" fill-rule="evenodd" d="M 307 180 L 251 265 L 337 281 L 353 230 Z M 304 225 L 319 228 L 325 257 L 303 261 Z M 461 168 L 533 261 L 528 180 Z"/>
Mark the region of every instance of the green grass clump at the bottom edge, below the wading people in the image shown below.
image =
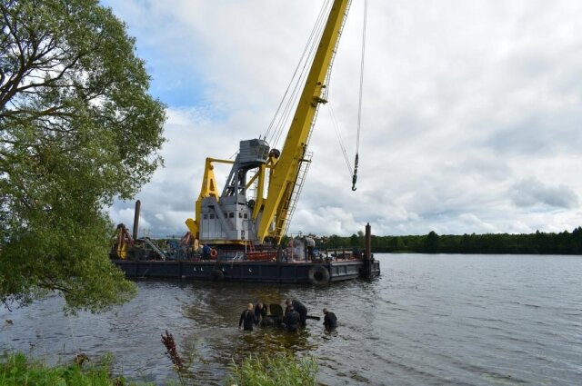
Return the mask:
<path id="1" fill-rule="evenodd" d="M 315 385 L 317 361 L 314 357 L 296 357 L 289 353 L 274 356 L 249 356 L 240 364 L 233 362 L 227 385 L 303 386 Z"/>

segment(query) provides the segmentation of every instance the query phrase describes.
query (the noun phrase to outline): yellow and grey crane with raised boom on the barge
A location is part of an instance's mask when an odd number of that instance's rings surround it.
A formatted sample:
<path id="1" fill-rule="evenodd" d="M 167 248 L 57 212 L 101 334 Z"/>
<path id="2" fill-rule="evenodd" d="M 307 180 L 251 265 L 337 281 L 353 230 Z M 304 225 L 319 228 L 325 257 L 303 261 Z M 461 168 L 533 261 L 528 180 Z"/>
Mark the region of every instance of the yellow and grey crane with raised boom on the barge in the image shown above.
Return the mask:
<path id="1" fill-rule="evenodd" d="M 286 231 L 290 205 L 319 104 L 325 104 L 326 80 L 336 46 L 346 21 L 351 0 L 333 0 L 321 40 L 307 74 L 296 112 L 286 135 L 283 150 L 269 151 L 265 139 L 241 141 L 234 162 L 206 159 L 200 194 L 196 200 L 196 221 L 186 225 L 204 243 L 263 243 L 270 238 L 278 243 Z M 223 193 L 218 195 L 213 163 L 233 163 Z M 247 173 L 255 175 L 247 179 Z M 266 173 L 269 173 L 266 186 Z M 246 199 L 246 191 L 256 183 L 256 197 Z M 266 196 L 265 191 L 266 190 Z"/>

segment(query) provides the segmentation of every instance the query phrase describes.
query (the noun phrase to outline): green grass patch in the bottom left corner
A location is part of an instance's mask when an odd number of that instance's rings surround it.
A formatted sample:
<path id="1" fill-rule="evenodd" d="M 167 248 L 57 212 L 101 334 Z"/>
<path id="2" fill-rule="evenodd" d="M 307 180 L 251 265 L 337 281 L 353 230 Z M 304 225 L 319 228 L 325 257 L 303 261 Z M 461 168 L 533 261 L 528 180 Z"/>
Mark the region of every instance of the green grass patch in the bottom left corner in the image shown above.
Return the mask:
<path id="1" fill-rule="evenodd" d="M 111 356 L 101 364 L 85 366 L 76 363 L 48 367 L 40 361 L 29 361 L 21 352 L 10 353 L 0 362 L 0 386 L 125 386 L 123 377 L 111 375 Z"/>

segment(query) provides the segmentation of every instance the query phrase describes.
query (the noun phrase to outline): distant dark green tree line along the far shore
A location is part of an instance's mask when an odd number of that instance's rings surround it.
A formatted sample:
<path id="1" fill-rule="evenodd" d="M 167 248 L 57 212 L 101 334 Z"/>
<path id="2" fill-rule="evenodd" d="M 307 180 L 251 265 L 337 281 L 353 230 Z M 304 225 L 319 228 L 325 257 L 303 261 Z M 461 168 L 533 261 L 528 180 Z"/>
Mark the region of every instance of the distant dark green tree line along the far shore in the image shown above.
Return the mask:
<path id="1" fill-rule="evenodd" d="M 332 235 L 322 238 L 321 249 L 363 247 L 364 234 L 349 237 Z M 414 253 L 523 253 L 523 254 L 582 254 L 582 227 L 573 232 L 531 234 L 487 233 L 438 235 L 430 232 L 414 236 L 372 235 L 373 252 Z"/>

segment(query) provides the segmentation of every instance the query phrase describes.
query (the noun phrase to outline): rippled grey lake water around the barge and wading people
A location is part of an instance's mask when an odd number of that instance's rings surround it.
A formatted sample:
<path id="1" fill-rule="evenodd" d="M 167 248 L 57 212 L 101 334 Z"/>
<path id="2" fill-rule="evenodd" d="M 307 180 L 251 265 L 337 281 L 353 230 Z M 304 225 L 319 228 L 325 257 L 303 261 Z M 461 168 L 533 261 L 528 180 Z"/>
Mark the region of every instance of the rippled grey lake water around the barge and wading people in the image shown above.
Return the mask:
<path id="1" fill-rule="evenodd" d="M 160 335 L 196 355 L 193 384 L 223 384 L 232 359 L 283 349 L 315 354 L 328 385 L 582 384 L 582 257 L 384 254 L 372 282 L 326 288 L 208 282 L 138 282 L 112 312 L 63 316 L 50 298 L 0 312 L 0 350 L 48 362 L 112 352 L 115 370 L 139 381 L 176 378 Z M 247 302 L 304 302 L 336 312 L 325 332 L 237 330 Z"/>

